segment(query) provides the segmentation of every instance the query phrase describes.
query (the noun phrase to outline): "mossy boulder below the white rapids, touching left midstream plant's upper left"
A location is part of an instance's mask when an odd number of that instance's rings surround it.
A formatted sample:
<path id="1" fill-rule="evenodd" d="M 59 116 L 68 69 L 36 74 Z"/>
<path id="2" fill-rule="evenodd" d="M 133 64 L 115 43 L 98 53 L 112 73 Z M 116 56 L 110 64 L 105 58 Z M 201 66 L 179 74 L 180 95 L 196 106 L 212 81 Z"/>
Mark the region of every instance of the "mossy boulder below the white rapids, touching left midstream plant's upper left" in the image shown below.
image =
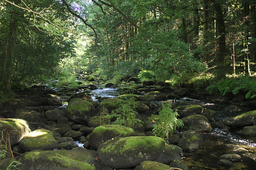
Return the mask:
<path id="1" fill-rule="evenodd" d="M 111 113 L 114 109 L 118 109 L 120 107 L 120 104 L 122 104 L 123 100 L 118 99 L 118 98 L 108 98 L 103 100 L 100 103 L 100 106 L 96 108 L 96 112 L 99 112 L 100 109 L 106 108 L 108 111 Z"/>

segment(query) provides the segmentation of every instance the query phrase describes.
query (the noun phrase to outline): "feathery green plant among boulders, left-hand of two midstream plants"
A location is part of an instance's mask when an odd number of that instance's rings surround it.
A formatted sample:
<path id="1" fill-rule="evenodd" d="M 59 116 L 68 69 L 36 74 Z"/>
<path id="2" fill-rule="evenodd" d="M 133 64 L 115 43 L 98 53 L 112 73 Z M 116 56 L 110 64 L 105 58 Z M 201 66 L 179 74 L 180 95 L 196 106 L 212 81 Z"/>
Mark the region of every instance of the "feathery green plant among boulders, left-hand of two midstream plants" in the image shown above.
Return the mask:
<path id="1" fill-rule="evenodd" d="M 126 127 L 134 127 L 136 122 L 142 122 L 136 115 L 135 98 L 124 100 L 118 109 L 112 111 L 111 118 L 115 117 L 117 125 L 124 125 Z"/>

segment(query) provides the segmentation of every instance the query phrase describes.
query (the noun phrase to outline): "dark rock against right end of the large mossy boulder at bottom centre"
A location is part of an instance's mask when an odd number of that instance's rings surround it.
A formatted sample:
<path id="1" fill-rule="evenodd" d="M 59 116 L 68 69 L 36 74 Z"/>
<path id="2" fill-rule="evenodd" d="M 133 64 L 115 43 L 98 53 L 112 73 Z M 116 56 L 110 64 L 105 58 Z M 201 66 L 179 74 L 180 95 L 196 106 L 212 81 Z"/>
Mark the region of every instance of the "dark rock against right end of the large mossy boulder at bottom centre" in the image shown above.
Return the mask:
<path id="1" fill-rule="evenodd" d="M 162 164 L 170 164 L 175 159 L 181 160 L 183 154 L 182 149 L 176 145 L 164 145 L 164 150 L 158 158 L 154 159 L 156 162 L 160 162 Z"/>

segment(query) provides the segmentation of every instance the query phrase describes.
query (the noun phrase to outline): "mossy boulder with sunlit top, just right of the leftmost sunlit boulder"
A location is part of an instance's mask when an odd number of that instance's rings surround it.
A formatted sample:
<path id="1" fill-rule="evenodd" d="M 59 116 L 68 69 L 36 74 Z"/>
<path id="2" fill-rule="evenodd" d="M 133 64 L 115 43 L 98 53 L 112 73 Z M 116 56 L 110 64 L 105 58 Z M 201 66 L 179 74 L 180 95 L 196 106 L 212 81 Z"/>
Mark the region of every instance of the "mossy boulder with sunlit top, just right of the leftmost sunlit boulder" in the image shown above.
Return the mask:
<path id="1" fill-rule="evenodd" d="M 20 140 L 19 144 L 25 151 L 53 150 L 59 147 L 59 143 L 54 139 L 53 133 L 46 129 L 37 129 L 28 133 Z"/>

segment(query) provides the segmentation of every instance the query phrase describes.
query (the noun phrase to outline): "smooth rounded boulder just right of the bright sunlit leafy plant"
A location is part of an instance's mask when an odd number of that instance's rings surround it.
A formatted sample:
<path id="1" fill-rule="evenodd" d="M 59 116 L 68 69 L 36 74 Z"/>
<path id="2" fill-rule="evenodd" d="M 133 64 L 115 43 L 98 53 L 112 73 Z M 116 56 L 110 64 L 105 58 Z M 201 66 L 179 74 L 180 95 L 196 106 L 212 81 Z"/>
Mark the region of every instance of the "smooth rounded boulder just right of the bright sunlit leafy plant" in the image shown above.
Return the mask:
<path id="1" fill-rule="evenodd" d="M 203 115 L 188 115 L 181 119 L 184 123 L 183 129 L 190 129 L 196 132 L 210 132 L 212 126 Z"/>

